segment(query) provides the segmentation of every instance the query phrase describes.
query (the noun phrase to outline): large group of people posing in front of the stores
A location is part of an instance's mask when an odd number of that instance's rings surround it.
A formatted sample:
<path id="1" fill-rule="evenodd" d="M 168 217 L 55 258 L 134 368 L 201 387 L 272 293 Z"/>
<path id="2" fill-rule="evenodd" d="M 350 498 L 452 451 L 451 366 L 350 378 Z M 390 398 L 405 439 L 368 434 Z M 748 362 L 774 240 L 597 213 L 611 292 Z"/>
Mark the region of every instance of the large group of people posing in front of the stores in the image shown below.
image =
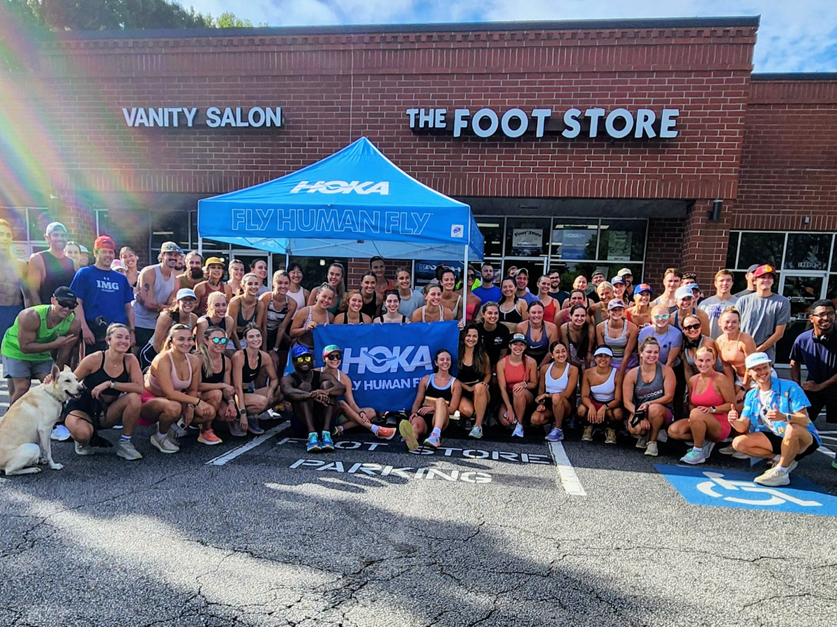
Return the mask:
<path id="1" fill-rule="evenodd" d="M 608 444 L 634 436 L 648 456 L 666 439 L 688 442 L 687 464 L 728 443 L 721 453 L 775 458 L 757 482 L 783 485 L 819 446 L 819 411 L 837 421 L 834 303 L 814 303 L 813 328 L 793 344 L 793 380 L 780 380 L 772 364 L 790 304 L 773 293 L 769 264 L 750 268 L 746 293 L 736 295 L 732 273 L 720 270 L 709 298 L 694 275 L 668 268 L 654 298 L 628 268 L 609 280 L 594 273 L 590 283 L 578 275 L 567 292 L 558 270 L 530 281 L 526 268 L 511 268 L 496 281 L 490 263 L 461 278 L 440 267 L 419 289 L 409 268 L 389 278 L 386 260 L 372 257 L 357 286 L 332 263 L 309 292 L 297 263 L 268 284 L 264 259 L 247 268 L 165 242 L 158 263 L 139 268 L 136 252 L 105 235 L 86 258 L 52 222 L 49 249 L 27 264 L 11 256 L 11 236 L 0 221 L 10 402 L 53 362 L 74 368 L 86 392 L 68 404 L 54 436 L 72 438 L 79 455 L 110 446 L 102 429 L 121 428 L 116 453 L 136 460 L 136 426 L 156 425 L 151 445 L 176 453 L 190 430 L 212 446 L 218 430 L 259 435 L 260 421 L 283 411 L 308 434 L 308 451 L 329 451 L 333 437 L 358 427 L 393 438 L 383 411 L 357 405 L 340 347 L 327 346 L 325 365 L 314 367 L 314 329 L 328 324 L 460 321 L 458 353 L 434 355 L 398 425 L 411 450 L 440 446 L 454 419 L 475 439 L 496 425 L 512 437 L 530 427 L 562 441 L 571 424 L 582 441 L 597 432 Z"/>

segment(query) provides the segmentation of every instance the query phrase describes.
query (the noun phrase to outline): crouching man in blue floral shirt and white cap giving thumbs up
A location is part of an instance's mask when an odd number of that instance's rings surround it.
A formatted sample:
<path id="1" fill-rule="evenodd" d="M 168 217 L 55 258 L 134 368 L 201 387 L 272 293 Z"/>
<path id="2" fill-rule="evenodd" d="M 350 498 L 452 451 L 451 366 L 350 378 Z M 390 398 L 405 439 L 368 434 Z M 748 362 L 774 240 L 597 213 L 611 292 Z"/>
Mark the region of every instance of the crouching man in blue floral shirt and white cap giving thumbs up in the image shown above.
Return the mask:
<path id="1" fill-rule="evenodd" d="M 766 353 L 747 355 L 747 366 L 757 387 L 747 392 L 739 417 L 735 406 L 727 420 L 743 436 L 732 447 L 752 457 L 775 459 L 778 463 L 759 475 L 754 482 L 763 486 L 787 486 L 788 474 L 798 461 L 822 445 L 814 423 L 809 420 L 811 405 L 804 391 L 793 381 L 780 380 L 771 372 L 772 359 Z"/>

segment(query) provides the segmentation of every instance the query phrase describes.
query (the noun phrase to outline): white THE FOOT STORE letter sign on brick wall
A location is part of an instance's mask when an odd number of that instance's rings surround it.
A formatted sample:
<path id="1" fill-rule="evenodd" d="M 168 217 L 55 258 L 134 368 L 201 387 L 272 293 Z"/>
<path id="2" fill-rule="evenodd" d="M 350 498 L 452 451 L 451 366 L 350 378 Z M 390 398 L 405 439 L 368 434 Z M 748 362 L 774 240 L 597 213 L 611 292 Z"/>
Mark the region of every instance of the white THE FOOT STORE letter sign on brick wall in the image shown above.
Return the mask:
<path id="1" fill-rule="evenodd" d="M 678 109 L 623 109 L 588 107 L 552 110 L 547 107 L 509 110 L 412 108 L 405 111 L 413 133 L 462 137 L 497 137 L 511 139 L 522 135 L 562 135 L 577 137 L 670 139 L 677 136 Z"/>

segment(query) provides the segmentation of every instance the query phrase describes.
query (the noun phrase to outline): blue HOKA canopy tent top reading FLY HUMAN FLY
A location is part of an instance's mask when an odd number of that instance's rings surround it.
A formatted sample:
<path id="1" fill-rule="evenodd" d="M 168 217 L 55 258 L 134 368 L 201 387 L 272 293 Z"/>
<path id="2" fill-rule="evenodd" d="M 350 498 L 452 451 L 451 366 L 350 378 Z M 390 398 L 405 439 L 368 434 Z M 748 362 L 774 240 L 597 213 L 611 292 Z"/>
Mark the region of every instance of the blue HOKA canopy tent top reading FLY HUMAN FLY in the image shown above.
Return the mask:
<path id="1" fill-rule="evenodd" d="M 274 181 L 198 201 L 200 237 L 301 256 L 482 259 L 470 207 L 366 137 Z"/>

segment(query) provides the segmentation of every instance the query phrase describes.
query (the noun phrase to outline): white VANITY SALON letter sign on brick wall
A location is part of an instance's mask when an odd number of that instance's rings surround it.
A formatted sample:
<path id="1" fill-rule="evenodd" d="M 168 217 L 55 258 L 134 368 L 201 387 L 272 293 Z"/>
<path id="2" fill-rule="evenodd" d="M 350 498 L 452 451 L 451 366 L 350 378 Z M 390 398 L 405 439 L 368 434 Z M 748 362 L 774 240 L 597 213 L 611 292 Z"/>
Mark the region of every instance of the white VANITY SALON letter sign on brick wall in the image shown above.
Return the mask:
<path id="1" fill-rule="evenodd" d="M 126 125 L 134 127 L 261 129 L 282 125 L 281 107 L 122 107 L 122 115 Z"/>

